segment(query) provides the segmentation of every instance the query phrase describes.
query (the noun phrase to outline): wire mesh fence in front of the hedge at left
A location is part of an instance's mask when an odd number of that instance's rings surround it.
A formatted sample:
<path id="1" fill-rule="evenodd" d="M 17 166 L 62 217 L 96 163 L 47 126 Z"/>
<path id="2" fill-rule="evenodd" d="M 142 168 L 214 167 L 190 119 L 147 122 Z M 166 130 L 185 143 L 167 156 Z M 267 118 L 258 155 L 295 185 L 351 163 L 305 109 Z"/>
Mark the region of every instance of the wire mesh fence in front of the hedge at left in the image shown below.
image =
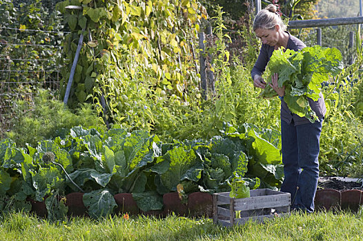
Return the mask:
<path id="1" fill-rule="evenodd" d="M 32 103 L 39 88 L 59 90 L 65 34 L 68 32 L 0 27 L 1 138 L 11 129 L 17 101 Z"/>

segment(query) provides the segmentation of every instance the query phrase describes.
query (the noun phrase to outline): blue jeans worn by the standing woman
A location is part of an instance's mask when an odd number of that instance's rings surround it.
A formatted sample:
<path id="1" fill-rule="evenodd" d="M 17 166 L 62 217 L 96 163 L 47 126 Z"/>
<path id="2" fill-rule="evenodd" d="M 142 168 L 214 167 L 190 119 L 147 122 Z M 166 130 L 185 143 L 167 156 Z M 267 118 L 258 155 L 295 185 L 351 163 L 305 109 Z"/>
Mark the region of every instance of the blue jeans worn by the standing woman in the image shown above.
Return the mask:
<path id="1" fill-rule="evenodd" d="M 319 151 L 322 120 L 304 125 L 281 121 L 284 182 L 281 191 L 291 193 L 293 209 L 314 211 L 319 178 Z"/>

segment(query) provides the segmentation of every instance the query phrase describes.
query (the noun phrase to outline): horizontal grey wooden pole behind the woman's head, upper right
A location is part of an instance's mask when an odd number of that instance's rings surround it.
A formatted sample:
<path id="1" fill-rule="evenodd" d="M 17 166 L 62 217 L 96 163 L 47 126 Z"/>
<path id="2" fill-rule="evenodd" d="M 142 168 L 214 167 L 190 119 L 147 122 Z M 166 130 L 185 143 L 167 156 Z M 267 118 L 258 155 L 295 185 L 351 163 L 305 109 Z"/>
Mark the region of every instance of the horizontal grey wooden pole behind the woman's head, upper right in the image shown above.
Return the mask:
<path id="1" fill-rule="evenodd" d="M 335 25 L 349 25 L 363 23 L 363 17 L 295 20 L 288 22 L 288 28 L 317 28 Z"/>

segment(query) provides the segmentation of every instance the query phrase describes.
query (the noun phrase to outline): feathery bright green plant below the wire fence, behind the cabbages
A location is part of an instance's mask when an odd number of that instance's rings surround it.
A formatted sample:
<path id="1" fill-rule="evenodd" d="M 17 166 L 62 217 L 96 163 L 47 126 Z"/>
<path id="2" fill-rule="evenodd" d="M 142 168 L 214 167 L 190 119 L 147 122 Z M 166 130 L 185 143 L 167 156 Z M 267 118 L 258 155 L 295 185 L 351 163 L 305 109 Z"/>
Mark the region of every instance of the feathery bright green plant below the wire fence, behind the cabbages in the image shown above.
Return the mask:
<path id="1" fill-rule="evenodd" d="M 37 145 L 39 140 L 64 136 L 77 125 L 103 126 L 90 105 L 82 105 L 73 113 L 48 90 L 39 90 L 34 103 L 17 101 L 14 113 L 12 130 L 7 136 L 21 147 L 26 143 Z"/>

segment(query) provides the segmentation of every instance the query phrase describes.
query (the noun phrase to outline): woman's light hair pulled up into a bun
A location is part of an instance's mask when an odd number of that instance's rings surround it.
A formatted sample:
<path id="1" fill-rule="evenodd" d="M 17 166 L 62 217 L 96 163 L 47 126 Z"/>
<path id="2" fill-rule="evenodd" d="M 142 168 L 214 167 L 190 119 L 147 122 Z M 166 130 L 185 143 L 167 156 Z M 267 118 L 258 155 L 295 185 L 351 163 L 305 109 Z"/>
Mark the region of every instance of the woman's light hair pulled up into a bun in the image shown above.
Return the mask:
<path id="1" fill-rule="evenodd" d="M 258 28 L 271 29 L 277 24 L 282 30 L 286 30 L 286 25 L 277 13 L 277 7 L 273 4 L 269 4 L 266 8 L 257 13 L 255 21 L 253 21 L 253 31 Z"/>

